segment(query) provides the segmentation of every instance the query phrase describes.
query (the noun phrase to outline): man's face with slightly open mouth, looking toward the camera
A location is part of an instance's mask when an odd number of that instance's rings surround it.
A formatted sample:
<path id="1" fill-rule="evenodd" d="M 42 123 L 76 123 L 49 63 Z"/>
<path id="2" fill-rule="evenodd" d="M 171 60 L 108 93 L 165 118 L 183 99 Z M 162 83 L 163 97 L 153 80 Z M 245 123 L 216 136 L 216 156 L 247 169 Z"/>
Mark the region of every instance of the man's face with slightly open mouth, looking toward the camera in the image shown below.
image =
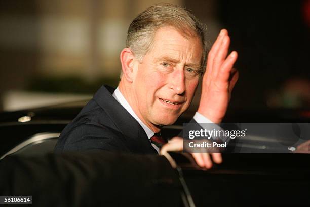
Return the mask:
<path id="1" fill-rule="evenodd" d="M 202 68 L 202 44 L 172 27 L 160 28 L 151 49 L 135 64 L 134 111 L 150 128 L 170 125 L 189 107 Z"/>

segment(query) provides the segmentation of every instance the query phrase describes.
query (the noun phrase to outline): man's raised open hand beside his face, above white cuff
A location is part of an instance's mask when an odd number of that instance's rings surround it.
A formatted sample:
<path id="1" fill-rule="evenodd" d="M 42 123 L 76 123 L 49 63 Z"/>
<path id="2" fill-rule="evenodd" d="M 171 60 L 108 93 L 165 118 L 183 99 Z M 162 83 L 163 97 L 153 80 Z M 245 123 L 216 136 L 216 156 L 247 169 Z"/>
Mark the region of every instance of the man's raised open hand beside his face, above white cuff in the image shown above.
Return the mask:
<path id="1" fill-rule="evenodd" d="M 198 112 L 214 123 L 220 123 L 226 113 L 230 94 L 239 73 L 233 68 L 238 54 L 228 56 L 230 38 L 222 29 L 214 42 L 207 59 L 207 68 L 202 80 L 202 93 Z"/>

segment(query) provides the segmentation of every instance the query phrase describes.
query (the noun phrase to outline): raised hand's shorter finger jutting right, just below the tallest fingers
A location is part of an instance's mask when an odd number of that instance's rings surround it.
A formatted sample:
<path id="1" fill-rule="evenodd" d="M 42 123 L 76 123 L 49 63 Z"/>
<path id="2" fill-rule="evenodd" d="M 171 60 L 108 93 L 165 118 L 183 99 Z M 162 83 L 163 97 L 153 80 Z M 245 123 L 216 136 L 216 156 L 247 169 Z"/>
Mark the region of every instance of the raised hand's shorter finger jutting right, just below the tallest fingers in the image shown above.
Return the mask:
<path id="1" fill-rule="evenodd" d="M 238 58 L 238 53 L 236 51 L 232 51 L 226 60 L 221 65 L 220 71 L 217 75 L 218 84 L 223 83 L 227 84 L 230 76 L 230 71 L 234 66 L 236 60 Z M 227 84 L 228 85 L 228 84 Z"/>

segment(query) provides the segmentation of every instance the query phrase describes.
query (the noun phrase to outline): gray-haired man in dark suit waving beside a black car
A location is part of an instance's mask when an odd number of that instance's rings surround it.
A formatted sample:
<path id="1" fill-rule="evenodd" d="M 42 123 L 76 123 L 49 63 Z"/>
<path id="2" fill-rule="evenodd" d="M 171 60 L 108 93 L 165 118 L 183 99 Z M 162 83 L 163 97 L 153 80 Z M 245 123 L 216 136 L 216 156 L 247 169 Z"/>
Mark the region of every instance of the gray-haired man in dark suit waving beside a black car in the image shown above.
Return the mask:
<path id="1" fill-rule="evenodd" d="M 201 77 L 201 99 L 191 122 L 220 123 L 238 80 L 237 52 L 228 55 L 230 40 L 222 29 L 207 58 L 204 37 L 203 25 L 182 7 L 157 4 L 140 13 L 120 54 L 119 86 L 97 91 L 62 131 L 55 152 L 182 150 L 181 139 L 166 144 L 159 132 L 188 109 Z M 212 166 L 208 153 L 192 155 L 201 167 Z M 221 162 L 220 154 L 211 155 Z"/>

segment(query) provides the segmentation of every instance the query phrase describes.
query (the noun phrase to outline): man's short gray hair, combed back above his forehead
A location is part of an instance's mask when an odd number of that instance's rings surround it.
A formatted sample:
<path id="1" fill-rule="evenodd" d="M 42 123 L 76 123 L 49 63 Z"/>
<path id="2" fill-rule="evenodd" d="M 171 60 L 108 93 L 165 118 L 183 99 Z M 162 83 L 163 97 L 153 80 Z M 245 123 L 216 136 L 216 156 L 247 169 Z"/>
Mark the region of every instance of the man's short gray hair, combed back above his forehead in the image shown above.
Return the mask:
<path id="1" fill-rule="evenodd" d="M 154 34 L 164 26 L 176 28 L 186 38 L 201 39 L 202 66 L 204 67 L 207 53 L 205 26 L 181 6 L 168 3 L 156 4 L 140 13 L 128 28 L 126 47 L 131 49 L 138 60 L 142 60 L 152 46 Z"/>

